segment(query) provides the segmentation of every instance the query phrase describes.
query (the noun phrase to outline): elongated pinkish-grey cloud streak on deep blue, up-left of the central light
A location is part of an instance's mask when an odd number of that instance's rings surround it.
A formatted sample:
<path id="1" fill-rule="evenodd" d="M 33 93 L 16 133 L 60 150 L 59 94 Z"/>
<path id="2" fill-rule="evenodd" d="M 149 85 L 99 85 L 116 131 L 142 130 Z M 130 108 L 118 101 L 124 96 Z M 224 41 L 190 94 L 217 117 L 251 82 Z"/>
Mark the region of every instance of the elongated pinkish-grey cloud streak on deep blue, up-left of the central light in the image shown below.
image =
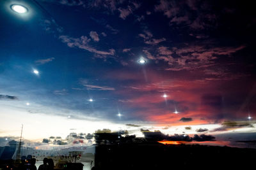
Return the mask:
<path id="1" fill-rule="evenodd" d="M 114 49 L 109 49 L 109 52 L 104 52 L 104 51 L 97 50 L 92 46 L 88 45 L 88 43 L 90 42 L 90 38 L 88 39 L 86 36 L 81 36 L 80 38 L 72 38 L 69 36 L 62 35 L 59 38 L 63 43 L 67 44 L 67 46 L 69 46 L 70 48 L 77 47 L 77 48 L 87 50 L 92 53 L 97 53 L 100 55 L 115 55 Z"/>

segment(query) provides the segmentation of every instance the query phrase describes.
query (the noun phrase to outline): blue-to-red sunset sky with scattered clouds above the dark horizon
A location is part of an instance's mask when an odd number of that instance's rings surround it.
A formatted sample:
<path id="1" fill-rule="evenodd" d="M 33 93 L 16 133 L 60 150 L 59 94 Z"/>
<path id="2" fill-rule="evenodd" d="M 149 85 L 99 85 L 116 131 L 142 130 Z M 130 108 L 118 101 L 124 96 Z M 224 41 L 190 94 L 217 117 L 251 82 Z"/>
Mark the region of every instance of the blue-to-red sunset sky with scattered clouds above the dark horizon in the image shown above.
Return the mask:
<path id="1" fill-rule="evenodd" d="M 3 0 L 0 23 L 0 136 L 255 136 L 249 1 Z"/>

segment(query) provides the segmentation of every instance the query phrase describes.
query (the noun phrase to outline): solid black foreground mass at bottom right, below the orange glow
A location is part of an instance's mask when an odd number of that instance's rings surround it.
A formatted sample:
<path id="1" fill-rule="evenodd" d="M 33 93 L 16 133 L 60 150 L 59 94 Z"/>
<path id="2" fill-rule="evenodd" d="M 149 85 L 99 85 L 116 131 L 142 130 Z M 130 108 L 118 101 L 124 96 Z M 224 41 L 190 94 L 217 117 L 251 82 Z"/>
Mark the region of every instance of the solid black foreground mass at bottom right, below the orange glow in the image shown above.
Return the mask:
<path id="1" fill-rule="evenodd" d="M 254 169 L 255 155 L 255 149 L 227 146 L 154 142 L 98 145 L 95 169 Z"/>

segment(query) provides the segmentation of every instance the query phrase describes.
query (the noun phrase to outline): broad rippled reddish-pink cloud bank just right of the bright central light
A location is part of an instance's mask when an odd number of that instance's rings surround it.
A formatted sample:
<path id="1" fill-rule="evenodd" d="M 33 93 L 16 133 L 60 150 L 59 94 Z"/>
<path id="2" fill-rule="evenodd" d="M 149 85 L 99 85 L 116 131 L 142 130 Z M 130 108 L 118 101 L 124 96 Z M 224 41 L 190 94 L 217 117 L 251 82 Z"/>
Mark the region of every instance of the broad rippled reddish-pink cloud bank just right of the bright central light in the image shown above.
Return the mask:
<path id="1" fill-rule="evenodd" d="M 150 39 L 146 34 L 139 35 L 144 39 Z M 145 40 L 148 41 L 148 40 Z M 145 49 L 148 59 L 163 60 L 169 67 L 166 70 L 181 71 L 195 70 L 214 66 L 218 59 L 223 56 L 231 57 L 233 53 L 242 50 L 246 46 L 216 46 L 214 44 L 204 45 L 186 45 L 179 47 L 159 46 L 156 49 Z M 222 56 L 223 55 L 223 56 Z M 227 70 L 225 70 L 227 72 Z M 220 74 L 220 76 L 223 74 Z M 228 75 L 230 76 L 230 75 Z M 244 75 L 240 75 L 244 76 Z M 239 75 L 233 75 L 232 79 L 239 78 Z M 230 78 L 229 78 L 230 79 Z"/>

